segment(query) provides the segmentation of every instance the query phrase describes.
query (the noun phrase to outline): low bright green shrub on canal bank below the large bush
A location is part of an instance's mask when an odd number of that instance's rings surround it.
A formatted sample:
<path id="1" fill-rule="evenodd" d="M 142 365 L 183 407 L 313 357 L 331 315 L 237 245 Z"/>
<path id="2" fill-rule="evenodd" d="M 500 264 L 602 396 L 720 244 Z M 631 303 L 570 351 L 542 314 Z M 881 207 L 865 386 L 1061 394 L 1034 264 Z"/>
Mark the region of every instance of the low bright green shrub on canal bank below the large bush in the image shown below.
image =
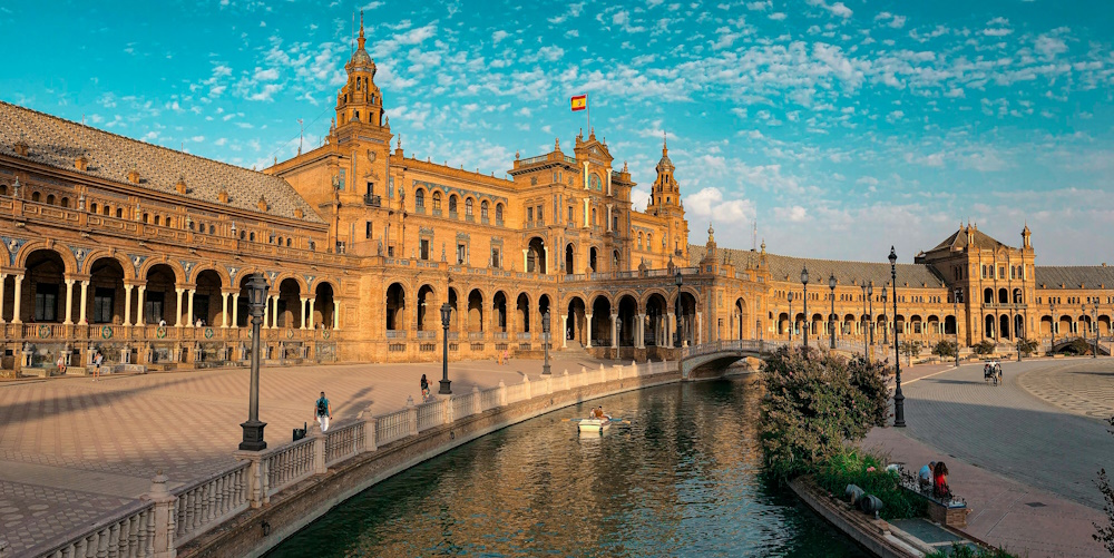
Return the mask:
<path id="1" fill-rule="evenodd" d="M 928 501 L 901 489 L 897 472 L 885 470 L 883 460 L 859 449 L 846 449 L 817 468 L 817 484 L 838 498 L 848 484 L 861 488 L 882 501 L 879 515 L 883 519 L 903 519 L 925 515 Z M 873 468 L 873 470 L 870 470 Z"/>

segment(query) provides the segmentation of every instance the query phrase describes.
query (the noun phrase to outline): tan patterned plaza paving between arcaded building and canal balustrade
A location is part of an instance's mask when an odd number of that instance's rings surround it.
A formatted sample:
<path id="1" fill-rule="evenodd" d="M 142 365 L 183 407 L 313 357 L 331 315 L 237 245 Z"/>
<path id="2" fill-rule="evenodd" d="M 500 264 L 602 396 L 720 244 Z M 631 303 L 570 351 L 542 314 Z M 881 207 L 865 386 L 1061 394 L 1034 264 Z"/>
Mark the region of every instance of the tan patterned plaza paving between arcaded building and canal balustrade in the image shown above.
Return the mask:
<path id="1" fill-rule="evenodd" d="M 599 364 L 561 358 L 553 371 Z M 450 363 L 449 379 L 452 391 L 462 393 L 540 372 L 540 361 L 466 361 Z M 263 369 L 265 439 L 271 447 L 290 441 L 292 429 L 314 420 L 321 391 L 334 423 L 365 409 L 400 409 L 407 398 L 421 401 L 423 373 L 436 392 L 440 363 Z M 233 464 L 250 378 L 246 369 L 224 369 L 0 384 L 0 538 L 19 556 L 145 493 L 158 470 L 178 484 Z"/>

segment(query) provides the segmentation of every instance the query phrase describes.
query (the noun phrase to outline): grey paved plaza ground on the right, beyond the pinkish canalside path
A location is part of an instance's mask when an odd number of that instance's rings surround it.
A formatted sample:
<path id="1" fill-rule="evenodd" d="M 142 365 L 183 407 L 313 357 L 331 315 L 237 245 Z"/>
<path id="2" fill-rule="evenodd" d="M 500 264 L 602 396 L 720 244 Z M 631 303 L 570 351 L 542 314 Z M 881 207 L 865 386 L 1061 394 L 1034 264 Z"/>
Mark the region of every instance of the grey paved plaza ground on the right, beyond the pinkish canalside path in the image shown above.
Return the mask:
<path id="1" fill-rule="evenodd" d="M 1049 403 L 1023 389 L 1019 383 L 1072 378 L 1102 378 L 1114 370 L 1114 361 L 1034 360 L 1003 363 L 1004 383 L 983 381 L 981 364 L 921 374 L 906 380 L 905 434 L 944 452 L 944 459 L 959 459 L 1009 479 L 1047 490 L 1067 500 L 1102 509 L 1095 478 L 1103 467 L 1114 467 L 1114 437 L 1107 424 L 1084 417 L 1081 403 L 1089 384 L 1061 382 L 1074 386 L 1064 395 L 1048 392 Z M 1020 382 L 1018 381 L 1020 376 Z M 1072 412 L 1065 408 L 1074 409 Z"/>

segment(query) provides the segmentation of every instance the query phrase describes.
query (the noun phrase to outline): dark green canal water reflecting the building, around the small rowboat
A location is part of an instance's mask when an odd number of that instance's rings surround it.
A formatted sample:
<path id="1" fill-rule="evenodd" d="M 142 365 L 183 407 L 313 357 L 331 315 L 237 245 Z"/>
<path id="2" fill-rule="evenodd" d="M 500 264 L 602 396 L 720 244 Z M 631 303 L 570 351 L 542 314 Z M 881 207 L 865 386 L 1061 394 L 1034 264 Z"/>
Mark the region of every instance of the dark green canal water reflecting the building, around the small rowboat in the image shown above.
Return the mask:
<path id="1" fill-rule="evenodd" d="M 864 556 L 759 478 L 751 380 L 594 400 L 461 446 L 383 481 L 277 557 Z M 603 405 L 629 425 L 578 434 Z"/>

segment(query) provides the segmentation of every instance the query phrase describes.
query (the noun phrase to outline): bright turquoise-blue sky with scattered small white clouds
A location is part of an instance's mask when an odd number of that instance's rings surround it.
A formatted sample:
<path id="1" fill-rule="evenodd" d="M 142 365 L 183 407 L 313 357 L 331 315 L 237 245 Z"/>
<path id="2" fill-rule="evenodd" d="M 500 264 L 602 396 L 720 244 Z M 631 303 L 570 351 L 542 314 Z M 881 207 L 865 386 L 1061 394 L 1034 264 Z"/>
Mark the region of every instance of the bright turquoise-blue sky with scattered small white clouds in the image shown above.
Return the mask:
<path id="1" fill-rule="evenodd" d="M 1114 258 L 1107 1 L 4 2 L 0 98 L 246 167 L 317 145 L 364 10 L 408 154 L 501 176 L 592 124 L 691 241 L 902 262 L 960 222 Z M 359 16 L 356 16 L 356 19 Z"/>

